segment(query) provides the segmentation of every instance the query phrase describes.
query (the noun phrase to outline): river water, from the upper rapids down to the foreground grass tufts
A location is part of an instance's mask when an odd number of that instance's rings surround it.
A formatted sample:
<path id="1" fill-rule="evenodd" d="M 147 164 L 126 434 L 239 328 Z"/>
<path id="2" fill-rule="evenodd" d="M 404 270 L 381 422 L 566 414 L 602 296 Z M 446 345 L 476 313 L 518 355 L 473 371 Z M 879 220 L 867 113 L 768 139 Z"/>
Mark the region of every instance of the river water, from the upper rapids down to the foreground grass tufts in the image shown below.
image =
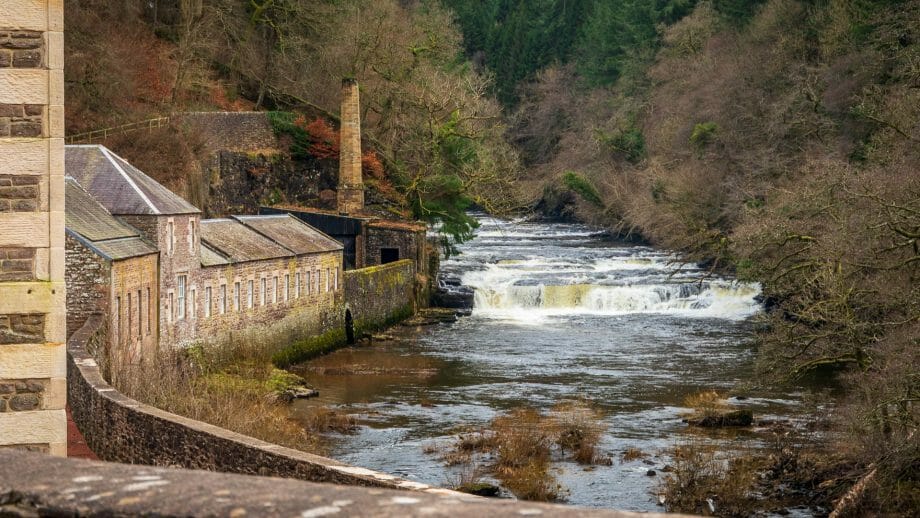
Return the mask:
<path id="1" fill-rule="evenodd" d="M 359 418 L 355 434 L 333 441 L 339 460 L 450 485 L 464 468 L 446 467 L 431 451 L 448 447 L 458 430 L 514 408 L 587 400 L 604 415 L 600 449 L 614 462 L 554 464 L 566 500 L 660 511 L 666 450 L 700 436 L 681 420 L 685 397 L 737 391 L 750 380 L 759 286 L 707 278 L 667 252 L 580 225 L 482 218 L 461 252 L 442 264 L 442 276 L 475 289 L 471 316 L 402 328 L 396 340 L 301 366 L 320 397 L 295 411 L 331 405 Z M 743 394 L 737 404 L 757 418 L 798 403 L 795 394 Z M 702 437 L 733 447 L 761 440 L 756 429 Z M 628 448 L 647 457 L 623 461 Z"/>

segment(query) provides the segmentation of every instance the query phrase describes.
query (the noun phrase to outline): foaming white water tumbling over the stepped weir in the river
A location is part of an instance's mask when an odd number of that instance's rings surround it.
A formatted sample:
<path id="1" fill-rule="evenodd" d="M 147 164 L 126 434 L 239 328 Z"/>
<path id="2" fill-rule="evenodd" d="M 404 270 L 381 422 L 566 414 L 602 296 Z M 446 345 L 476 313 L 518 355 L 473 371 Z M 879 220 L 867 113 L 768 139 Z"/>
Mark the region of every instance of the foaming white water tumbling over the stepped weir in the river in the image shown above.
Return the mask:
<path id="1" fill-rule="evenodd" d="M 483 221 L 485 229 L 477 236 L 480 246 L 539 248 L 532 231 L 515 231 L 513 224 L 499 220 Z M 557 233 L 540 237 L 571 244 L 591 237 L 580 227 L 553 230 Z M 660 251 L 577 246 L 562 250 L 568 253 L 528 253 L 463 272 L 461 283 L 475 290 L 474 315 L 522 323 L 549 316 L 632 313 L 744 320 L 760 310 L 759 285 L 709 278 L 696 265 Z M 459 261 L 469 259 L 461 256 Z"/>

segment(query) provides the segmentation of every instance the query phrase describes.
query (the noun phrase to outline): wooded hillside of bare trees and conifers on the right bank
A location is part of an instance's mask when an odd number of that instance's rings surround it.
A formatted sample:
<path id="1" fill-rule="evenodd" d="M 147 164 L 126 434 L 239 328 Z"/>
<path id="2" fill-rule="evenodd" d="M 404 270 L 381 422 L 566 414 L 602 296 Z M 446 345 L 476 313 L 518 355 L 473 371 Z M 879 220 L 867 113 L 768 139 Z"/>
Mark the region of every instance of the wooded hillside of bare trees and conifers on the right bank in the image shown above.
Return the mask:
<path id="1" fill-rule="evenodd" d="M 920 2 L 446 3 L 539 207 L 762 282 L 766 379 L 848 382 L 849 512 L 916 511 Z"/>

